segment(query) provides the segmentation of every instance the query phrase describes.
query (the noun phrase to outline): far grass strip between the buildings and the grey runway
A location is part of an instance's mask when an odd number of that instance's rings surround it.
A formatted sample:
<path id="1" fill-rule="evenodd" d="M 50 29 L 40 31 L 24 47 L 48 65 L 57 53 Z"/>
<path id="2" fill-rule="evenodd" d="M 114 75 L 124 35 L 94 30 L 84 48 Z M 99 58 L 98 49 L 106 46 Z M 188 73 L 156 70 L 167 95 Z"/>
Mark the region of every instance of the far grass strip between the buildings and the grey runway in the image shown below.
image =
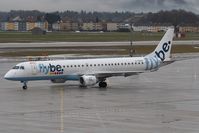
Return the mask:
<path id="1" fill-rule="evenodd" d="M 0 32 L 0 43 L 6 42 L 108 42 L 160 40 L 160 33 L 140 32 L 52 32 L 47 35 L 32 35 L 30 32 Z M 199 40 L 199 33 L 188 33 L 183 40 Z"/>

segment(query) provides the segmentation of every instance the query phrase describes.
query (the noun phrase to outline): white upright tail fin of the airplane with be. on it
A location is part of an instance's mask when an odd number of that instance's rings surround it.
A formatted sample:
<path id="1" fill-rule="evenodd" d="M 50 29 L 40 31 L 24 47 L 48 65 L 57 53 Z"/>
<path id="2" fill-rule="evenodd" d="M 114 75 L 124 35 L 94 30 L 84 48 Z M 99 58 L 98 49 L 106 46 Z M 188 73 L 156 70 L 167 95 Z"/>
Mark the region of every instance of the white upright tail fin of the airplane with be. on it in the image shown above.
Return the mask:
<path id="1" fill-rule="evenodd" d="M 146 55 L 145 57 L 157 57 L 162 62 L 169 61 L 173 36 L 174 36 L 174 29 L 169 28 L 162 37 L 156 49 L 152 53 Z"/>

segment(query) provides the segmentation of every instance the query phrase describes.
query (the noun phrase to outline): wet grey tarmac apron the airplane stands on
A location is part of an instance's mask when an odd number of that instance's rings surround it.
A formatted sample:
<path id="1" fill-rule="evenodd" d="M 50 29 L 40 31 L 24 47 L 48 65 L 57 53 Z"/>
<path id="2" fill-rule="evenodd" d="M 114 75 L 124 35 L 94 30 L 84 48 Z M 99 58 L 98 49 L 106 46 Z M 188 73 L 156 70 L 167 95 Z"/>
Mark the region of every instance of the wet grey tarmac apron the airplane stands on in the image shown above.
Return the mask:
<path id="1" fill-rule="evenodd" d="M 6 81 L 0 62 L 2 133 L 198 133 L 199 58 L 156 72 L 109 78 L 108 88 Z"/>

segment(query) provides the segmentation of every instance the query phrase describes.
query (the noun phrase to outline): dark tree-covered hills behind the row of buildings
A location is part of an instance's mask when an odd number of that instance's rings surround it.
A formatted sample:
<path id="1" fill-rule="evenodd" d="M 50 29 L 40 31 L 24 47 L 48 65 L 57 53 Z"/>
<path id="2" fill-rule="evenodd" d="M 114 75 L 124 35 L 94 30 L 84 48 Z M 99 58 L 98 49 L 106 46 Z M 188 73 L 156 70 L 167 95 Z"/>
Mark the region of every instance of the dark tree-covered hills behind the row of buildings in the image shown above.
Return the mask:
<path id="1" fill-rule="evenodd" d="M 11 10 L 0 12 L 0 21 L 11 21 L 20 16 L 23 21 L 33 19 L 34 21 L 47 20 L 53 23 L 59 20 L 70 20 L 78 23 L 83 22 L 116 22 L 134 23 L 137 25 L 172 24 L 178 25 L 199 25 L 199 16 L 185 10 L 159 11 L 157 13 L 133 13 L 133 12 L 86 12 L 86 11 L 65 11 L 65 12 L 40 12 L 37 10 Z"/>

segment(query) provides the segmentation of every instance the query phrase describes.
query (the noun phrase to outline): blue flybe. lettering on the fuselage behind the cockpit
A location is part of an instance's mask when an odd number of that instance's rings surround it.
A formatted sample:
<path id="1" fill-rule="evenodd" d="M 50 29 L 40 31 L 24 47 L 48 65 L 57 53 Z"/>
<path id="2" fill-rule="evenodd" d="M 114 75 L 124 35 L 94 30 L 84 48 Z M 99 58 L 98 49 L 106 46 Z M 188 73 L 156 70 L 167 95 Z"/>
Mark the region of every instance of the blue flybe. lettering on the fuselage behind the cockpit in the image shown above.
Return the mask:
<path id="1" fill-rule="evenodd" d="M 62 69 L 61 65 L 39 64 L 38 69 L 39 69 L 39 72 L 44 73 L 46 75 L 60 75 L 60 74 L 63 74 L 64 72 L 64 69 Z"/>

